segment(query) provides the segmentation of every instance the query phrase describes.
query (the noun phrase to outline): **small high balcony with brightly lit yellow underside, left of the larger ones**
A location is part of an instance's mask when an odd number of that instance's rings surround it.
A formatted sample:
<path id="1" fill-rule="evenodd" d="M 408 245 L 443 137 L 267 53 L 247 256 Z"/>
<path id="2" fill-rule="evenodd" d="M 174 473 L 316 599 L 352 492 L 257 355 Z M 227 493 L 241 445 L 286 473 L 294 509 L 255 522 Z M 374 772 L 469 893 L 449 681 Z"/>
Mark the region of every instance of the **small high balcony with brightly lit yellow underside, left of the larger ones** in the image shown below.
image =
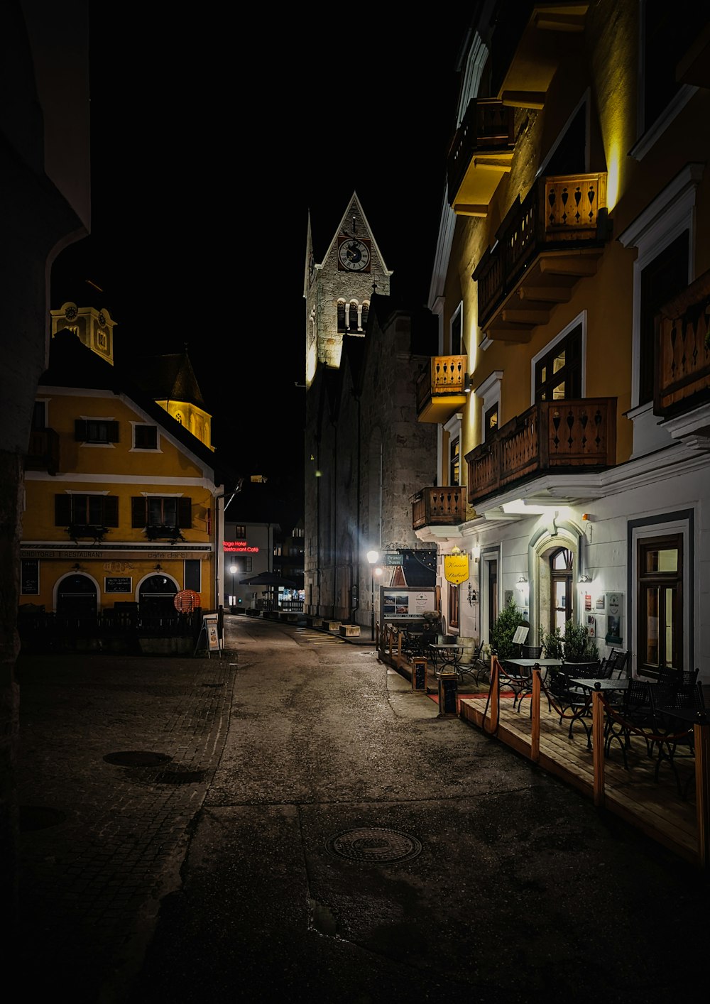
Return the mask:
<path id="1" fill-rule="evenodd" d="M 498 183 L 510 171 L 514 109 L 493 98 L 469 101 L 447 162 L 449 205 L 457 216 L 486 216 Z"/>

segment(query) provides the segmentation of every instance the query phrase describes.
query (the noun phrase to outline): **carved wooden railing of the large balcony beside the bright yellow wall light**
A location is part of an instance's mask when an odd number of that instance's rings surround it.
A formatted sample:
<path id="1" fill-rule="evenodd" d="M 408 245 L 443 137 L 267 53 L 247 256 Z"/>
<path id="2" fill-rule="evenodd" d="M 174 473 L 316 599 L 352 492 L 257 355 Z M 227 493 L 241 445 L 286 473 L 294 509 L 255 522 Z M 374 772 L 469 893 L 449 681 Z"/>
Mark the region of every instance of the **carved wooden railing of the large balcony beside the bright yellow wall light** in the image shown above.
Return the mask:
<path id="1" fill-rule="evenodd" d="M 607 175 L 564 175 L 538 178 L 525 199 L 513 205 L 488 249 L 473 272 L 478 283 L 478 316 L 486 327 L 498 307 L 522 282 L 534 281 L 534 290 L 519 294 L 522 302 L 509 304 L 521 316 L 529 315 L 537 302 L 558 302 L 566 298 L 565 288 L 589 271 L 590 263 L 579 252 L 600 249 L 609 240 L 607 216 Z M 566 254 L 565 254 L 566 252 Z M 530 279 L 531 263 L 544 253 L 553 253 L 555 262 L 546 277 Z M 598 251 L 598 255 L 601 251 Z M 545 288 L 548 287 L 548 288 Z"/>

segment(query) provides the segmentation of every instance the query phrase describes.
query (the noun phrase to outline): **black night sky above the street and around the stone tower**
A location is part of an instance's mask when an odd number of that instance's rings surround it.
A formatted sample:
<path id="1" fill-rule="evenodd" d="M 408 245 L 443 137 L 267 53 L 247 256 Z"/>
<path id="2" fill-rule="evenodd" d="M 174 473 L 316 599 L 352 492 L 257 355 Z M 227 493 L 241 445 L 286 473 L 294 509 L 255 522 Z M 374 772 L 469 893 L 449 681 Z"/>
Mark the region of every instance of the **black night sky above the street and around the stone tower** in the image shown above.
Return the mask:
<path id="1" fill-rule="evenodd" d="M 119 362 L 187 342 L 215 445 L 275 475 L 301 463 L 308 211 L 320 260 L 357 191 L 393 294 L 426 302 L 463 23 L 324 6 L 311 44 L 304 8 L 164 9 L 92 21 L 91 236 L 51 305 L 100 286 Z"/>

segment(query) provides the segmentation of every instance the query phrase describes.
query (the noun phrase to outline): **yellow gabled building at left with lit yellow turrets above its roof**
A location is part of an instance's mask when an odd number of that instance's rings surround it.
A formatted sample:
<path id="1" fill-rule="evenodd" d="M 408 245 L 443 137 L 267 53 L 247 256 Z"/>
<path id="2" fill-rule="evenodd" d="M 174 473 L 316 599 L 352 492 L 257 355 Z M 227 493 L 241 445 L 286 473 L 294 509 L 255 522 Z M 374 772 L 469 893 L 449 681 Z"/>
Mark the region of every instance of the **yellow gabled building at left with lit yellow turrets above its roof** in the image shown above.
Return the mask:
<path id="1" fill-rule="evenodd" d="M 112 364 L 112 325 L 105 311 L 71 303 L 52 312 L 26 463 L 21 608 L 98 615 L 102 626 L 119 612 L 214 609 L 235 479 L 209 444 L 187 355 L 167 358 L 164 372 L 183 381 L 162 407 Z"/>

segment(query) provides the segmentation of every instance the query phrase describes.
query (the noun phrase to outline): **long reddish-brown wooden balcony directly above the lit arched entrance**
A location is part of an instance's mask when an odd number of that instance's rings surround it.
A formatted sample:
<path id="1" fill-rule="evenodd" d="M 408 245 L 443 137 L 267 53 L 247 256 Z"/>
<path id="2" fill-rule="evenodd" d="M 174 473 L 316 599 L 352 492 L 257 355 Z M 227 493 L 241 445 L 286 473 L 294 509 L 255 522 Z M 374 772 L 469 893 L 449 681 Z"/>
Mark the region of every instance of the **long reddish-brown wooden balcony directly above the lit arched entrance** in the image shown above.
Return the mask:
<path id="1" fill-rule="evenodd" d="M 617 399 L 541 402 L 466 454 L 472 505 L 542 474 L 616 464 Z"/>

